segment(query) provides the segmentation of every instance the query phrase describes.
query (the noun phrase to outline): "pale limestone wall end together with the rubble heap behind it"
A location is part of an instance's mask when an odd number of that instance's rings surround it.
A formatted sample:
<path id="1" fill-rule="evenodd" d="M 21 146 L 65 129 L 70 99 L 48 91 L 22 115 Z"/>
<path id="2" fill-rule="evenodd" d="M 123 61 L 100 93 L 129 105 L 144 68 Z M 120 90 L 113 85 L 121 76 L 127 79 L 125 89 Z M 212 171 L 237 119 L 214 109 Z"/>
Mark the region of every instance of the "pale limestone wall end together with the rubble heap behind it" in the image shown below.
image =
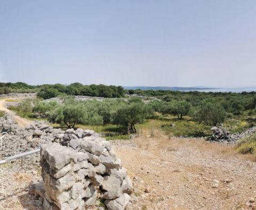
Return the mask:
<path id="1" fill-rule="evenodd" d="M 103 201 L 108 209 L 124 209 L 132 182 L 110 142 L 92 130 L 53 128 L 35 122 L 20 128 L 11 116 L 0 118 L 1 155 L 19 154 L 37 147 L 40 157 L 25 161 L 42 166 L 42 183 L 30 193 L 43 209 L 84 209 Z M 31 156 L 28 156 L 31 158 Z"/>

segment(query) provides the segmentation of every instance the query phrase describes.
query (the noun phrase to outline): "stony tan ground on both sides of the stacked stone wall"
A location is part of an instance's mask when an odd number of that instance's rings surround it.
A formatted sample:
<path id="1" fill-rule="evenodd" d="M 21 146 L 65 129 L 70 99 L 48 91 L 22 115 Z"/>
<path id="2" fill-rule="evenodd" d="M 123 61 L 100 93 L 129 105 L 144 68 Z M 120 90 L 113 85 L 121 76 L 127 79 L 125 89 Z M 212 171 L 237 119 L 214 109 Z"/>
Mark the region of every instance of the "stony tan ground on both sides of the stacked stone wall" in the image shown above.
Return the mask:
<path id="1" fill-rule="evenodd" d="M 154 137 L 144 131 L 133 140 L 112 143 L 133 181 L 126 209 L 255 209 L 256 163 L 236 154 L 233 145 L 169 140 L 157 130 Z M 2 154 L 21 151 L 25 142 L 17 138 L 12 149 L 8 145 L 2 143 Z M 0 209 L 41 209 L 28 193 L 42 179 L 40 173 L 36 156 L 1 165 Z"/>

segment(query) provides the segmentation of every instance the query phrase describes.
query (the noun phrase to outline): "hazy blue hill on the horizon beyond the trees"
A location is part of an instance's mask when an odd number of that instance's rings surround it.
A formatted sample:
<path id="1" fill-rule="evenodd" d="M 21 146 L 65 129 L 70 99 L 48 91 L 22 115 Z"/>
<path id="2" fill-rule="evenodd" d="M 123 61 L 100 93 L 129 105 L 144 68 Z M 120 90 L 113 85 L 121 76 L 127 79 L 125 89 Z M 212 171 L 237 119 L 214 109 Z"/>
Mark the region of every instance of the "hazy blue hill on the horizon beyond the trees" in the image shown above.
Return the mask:
<path id="1" fill-rule="evenodd" d="M 166 86 L 157 86 L 157 87 L 148 87 L 148 86 L 123 86 L 125 90 L 171 90 L 171 91 L 203 91 L 203 90 L 218 90 L 218 88 L 212 88 L 212 87 L 166 87 Z"/>

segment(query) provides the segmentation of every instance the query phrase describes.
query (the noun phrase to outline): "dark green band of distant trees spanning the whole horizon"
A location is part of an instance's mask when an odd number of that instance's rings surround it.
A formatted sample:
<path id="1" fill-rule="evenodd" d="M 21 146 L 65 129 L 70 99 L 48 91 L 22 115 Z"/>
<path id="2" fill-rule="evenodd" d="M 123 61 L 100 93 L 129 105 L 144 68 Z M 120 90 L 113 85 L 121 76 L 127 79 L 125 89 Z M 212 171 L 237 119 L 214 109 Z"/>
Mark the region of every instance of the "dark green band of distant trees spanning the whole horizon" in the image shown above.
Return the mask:
<path id="1" fill-rule="evenodd" d="M 33 93 L 37 92 L 39 98 L 50 99 L 60 95 L 86 95 L 103 98 L 124 98 L 124 94 L 138 94 L 154 96 L 165 102 L 187 101 L 193 107 L 200 106 L 203 101 L 215 101 L 225 108 L 226 112 L 235 115 L 245 110 L 252 110 L 256 105 L 256 92 L 223 93 L 223 92 L 181 92 L 170 90 L 124 90 L 122 86 L 83 85 L 72 83 L 70 85 L 28 85 L 26 83 L 0 83 L 0 94 Z"/>

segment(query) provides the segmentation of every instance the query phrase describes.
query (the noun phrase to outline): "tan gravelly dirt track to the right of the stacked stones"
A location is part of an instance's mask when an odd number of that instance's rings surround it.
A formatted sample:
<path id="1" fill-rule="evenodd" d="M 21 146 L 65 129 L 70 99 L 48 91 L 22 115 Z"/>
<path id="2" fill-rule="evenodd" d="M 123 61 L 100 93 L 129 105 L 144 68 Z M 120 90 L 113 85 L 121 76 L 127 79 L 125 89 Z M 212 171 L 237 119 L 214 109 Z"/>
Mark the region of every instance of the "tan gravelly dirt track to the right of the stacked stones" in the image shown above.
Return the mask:
<path id="1" fill-rule="evenodd" d="M 155 131 L 115 150 L 135 184 L 129 209 L 254 209 L 256 163 L 231 146 Z"/>

